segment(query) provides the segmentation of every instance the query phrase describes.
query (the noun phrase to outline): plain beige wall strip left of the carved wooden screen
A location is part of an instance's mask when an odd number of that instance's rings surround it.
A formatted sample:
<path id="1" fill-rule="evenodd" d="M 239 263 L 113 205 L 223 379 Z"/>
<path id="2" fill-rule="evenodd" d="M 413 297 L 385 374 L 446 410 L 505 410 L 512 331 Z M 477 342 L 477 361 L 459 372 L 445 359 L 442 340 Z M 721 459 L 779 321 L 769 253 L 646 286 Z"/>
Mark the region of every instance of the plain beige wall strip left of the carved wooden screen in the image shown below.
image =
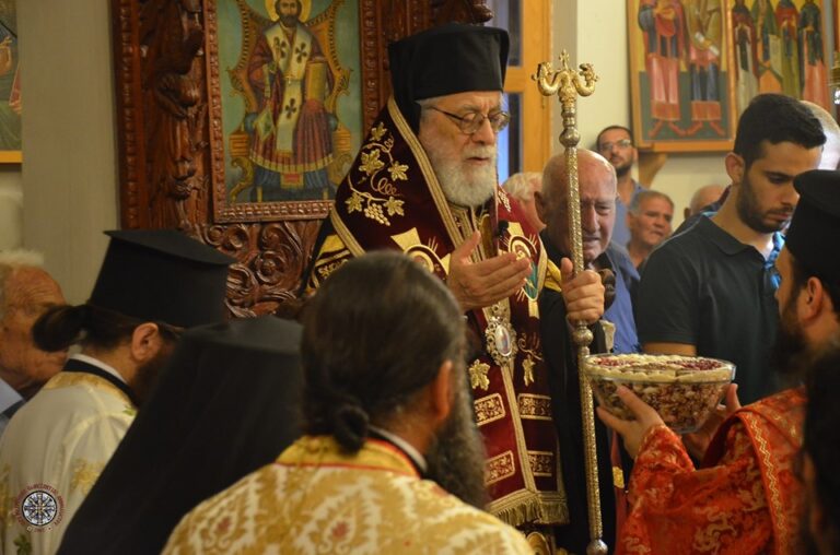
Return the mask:
<path id="1" fill-rule="evenodd" d="M 110 2 L 18 2 L 23 91 L 23 244 L 70 303 L 93 287 L 117 216 Z"/>

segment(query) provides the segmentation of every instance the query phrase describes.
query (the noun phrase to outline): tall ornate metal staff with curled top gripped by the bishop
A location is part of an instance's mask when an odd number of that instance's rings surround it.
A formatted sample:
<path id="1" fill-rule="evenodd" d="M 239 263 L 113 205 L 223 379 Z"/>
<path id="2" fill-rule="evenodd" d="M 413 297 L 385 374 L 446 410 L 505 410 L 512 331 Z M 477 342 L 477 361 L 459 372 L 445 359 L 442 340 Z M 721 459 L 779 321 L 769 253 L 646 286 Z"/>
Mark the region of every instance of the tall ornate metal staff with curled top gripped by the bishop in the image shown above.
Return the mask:
<path id="1" fill-rule="evenodd" d="M 532 79 L 544 96 L 558 96 L 563 119 L 563 132 L 560 143 L 565 146 L 565 168 L 569 172 L 569 231 L 572 239 L 572 262 L 574 273 L 583 271 L 583 239 L 581 232 L 581 193 L 578 185 L 578 143 L 581 134 L 578 132 L 576 104 L 578 96 L 590 96 L 595 92 L 598 80 L 591 63 L 582 63 L 580 71 L 569 67 L 569 52 L 560 55 L 560 69 L 551 68 L 551 62 L 537 66 L 536 75 Z M 585 322 L 572 322 L 574 331 L 572 339 L 578 345 L 578 367 L 583 367 L 583 358 L 590 354 L 592 332 Z M 583 416 L 584 459 L 586 462 L 586 500 L 590 517 L 590 544 L 587 555 L 606 555 L 607 544 L 602 540 L 603 528 L 600 520 L 600 495 L 598 492 L 598 456 L 595 451 L 595 413 L 592 400 L 592 389 L 583 373 L 580 374 L 581 412 Z"/>

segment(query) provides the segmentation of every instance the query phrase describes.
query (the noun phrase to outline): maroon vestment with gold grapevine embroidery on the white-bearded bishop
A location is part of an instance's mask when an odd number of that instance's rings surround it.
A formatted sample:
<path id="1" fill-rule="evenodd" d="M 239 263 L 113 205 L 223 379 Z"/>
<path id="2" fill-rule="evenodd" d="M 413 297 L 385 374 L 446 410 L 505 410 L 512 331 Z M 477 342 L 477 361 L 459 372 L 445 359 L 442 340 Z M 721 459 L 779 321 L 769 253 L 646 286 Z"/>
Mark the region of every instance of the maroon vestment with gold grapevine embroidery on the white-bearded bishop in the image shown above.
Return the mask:
<path id="1" fill-rule="evenodd" d="M 468 363 L 468 378 L 488 456 L 488 510 L 517 527 L 568 522 L 539 335 L 537 298 L 548 262 L 518 204 L 501 188 L 478 209 L 450 204 L 419 139 L 390 98 L 338 188 L 324 226 L 308 292 L 352 257 L 376 249 L 400 250 L 446 280 L 453 250 L 476 229 L 486 240 L 474 261 L 494 256 L 494 248 L 530 260 L 532 273 L 517 293 L 467 314 L 485 344 Z M 487 240 L 491 235 L 495 245 Z"/>

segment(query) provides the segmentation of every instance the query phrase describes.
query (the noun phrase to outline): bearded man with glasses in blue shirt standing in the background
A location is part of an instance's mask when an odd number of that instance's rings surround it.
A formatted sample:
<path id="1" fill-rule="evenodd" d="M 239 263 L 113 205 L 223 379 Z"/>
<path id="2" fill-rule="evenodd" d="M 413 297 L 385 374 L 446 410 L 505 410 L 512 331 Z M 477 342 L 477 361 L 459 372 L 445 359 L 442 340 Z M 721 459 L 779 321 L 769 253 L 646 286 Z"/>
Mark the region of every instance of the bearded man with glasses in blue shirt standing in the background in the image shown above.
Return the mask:
<path id="1" fill-rule="evenodd" d="M 633 201 L 633 197 L 645 190 L 645 187 L 633 179 L 632 175 L 633 164 L 639 160 L 639 151 L 633 145 L 632 132 L 623 126 L 604 128 L 595 140 L 595 149 L 616 168 L 618 199 L 612 240 L 616 245 L 625 246 L 630 240 L 627 208 Z"/>

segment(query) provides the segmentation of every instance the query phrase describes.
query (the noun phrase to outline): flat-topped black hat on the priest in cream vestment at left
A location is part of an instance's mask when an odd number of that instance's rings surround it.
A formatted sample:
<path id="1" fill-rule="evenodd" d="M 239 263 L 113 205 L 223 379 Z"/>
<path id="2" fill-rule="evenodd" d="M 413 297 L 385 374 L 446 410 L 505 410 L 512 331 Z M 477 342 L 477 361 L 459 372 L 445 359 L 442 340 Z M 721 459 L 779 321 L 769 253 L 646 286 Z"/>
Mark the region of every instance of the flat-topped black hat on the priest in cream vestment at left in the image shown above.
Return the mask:
<path id="1" fill-rule="evenodd" d="M 182 328 L 224 320 L 234 259 L 174 229 L 105 234 L 110 244 L 89 304 Z"/>

